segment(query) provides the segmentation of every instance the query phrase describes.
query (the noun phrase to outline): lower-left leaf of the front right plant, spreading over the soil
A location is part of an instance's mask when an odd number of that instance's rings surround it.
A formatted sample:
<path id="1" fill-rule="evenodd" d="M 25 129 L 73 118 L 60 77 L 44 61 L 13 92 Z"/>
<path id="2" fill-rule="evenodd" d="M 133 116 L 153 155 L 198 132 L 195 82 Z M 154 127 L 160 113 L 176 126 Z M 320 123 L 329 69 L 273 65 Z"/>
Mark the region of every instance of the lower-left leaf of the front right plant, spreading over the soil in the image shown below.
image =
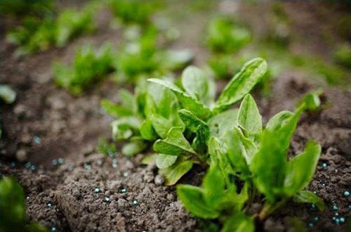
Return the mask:
<path id="1" fill-rule="evenodd" d="M 201 188 L 179 184 L 177 186 L 177 195 L 185 209 L 197 217 L 216 219 L 219 216 L 219 212 L 214 210 L 211 205 L 206 204 L 204 191 Z"/>

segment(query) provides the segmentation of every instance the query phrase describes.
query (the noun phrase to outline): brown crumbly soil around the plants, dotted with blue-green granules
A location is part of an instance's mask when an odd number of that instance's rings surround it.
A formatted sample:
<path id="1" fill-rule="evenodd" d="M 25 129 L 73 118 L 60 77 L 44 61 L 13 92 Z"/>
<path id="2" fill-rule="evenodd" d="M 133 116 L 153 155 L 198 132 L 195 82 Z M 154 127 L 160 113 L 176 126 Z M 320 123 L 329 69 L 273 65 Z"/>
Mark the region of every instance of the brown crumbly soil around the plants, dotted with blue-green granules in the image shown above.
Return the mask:
<path id="1" fill-rule="evenodd" d="M 290 13 L 294 7 L 291 4 Z M 112 120 L 100 111 L 100 100 L 116 100 L 118 86 L 107 79 L 77 98 L 53 84 L 54 59 L 69 63 L 74 48 L 87 42 L 118 44 L 121 30 L 107 23 L 109 12 L 102 11 L 98 18 L 95 34 L 76 39 L 64 49 L 24 58 L 15 56 L 15 47 L 1 33 L 1 82 L 11 84 L 18 98 L 13 105 L 1 103 L 0 176 L 15 176 L 24 187 L 29 220 L 56 231 L 201 231 L 199 221 L 177 200 L 175 188 L 162 185 L 156 167 L 140 164 L 143 155 L 128 159 L 95 152 L 98 138 L 109 136 Z M 194 22 L 201 20 L 194 17 Z M 196 40 L 187 44 L 187 37 L 173 46 L 192 48 Z M 206 50 L 196 46 L 195 53 L 195 63 L 203 62 Z M 324 90 L 325 110 L 302 117 L 289 155 L 301 152 L 311 139 L 321 144 L 322 157 L 308 188 L 324 200 L 326 210 L 290 202 L 258 225 L 258 230 L 289 231 L 293 217 L 306 225 L 313 223 L 312 231 L 346 230 L 351 198 L 343 193 L 350 191 L 351 183 L 351 91 L 321 86 L 304 74 L 289 71 L 274 82 L 272 96 L 259 98 L 258 105 L 267 122 L 280 110 L 293 110 L 303 94 L 318 88 Z M 59 159 L 62 164 L 54 165 Z M 201 169 L 193 170 L 181 182 L 199 184 L 203 174 Z M 333 205 L 338 207 L 338 217 L 345 217 L 344 224 L 333 222 Z"/>

